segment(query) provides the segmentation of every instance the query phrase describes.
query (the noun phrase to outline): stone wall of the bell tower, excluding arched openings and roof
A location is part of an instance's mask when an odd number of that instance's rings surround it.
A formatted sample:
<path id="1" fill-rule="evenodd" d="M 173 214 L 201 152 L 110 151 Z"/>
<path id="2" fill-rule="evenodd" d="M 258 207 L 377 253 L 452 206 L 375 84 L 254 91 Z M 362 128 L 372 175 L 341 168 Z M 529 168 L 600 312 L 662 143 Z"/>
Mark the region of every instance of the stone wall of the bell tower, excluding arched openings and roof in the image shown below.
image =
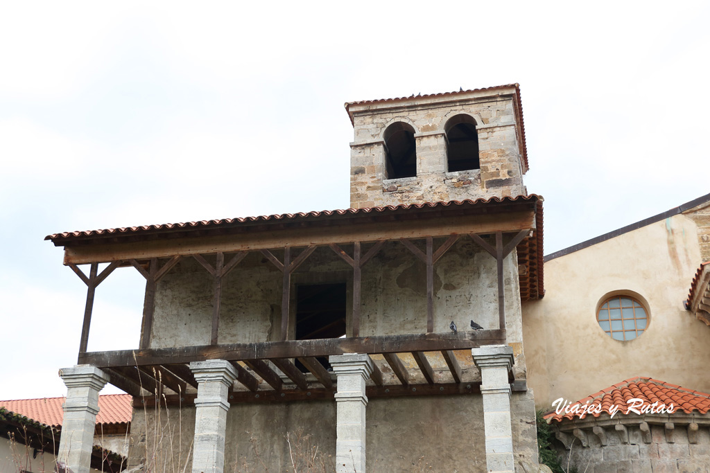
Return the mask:
<path id="1" fill-rule="evenodd" d="M 350 206 L 363 208 L 525 194 L 512 96 L 409 105 L 354 116 Z M 476 121 L 480 169 L 447 172 L 444 126 L 466 113 Z M 383 132 L 395 121 L 413 126 L 417 176 L 386 179 Z"/>

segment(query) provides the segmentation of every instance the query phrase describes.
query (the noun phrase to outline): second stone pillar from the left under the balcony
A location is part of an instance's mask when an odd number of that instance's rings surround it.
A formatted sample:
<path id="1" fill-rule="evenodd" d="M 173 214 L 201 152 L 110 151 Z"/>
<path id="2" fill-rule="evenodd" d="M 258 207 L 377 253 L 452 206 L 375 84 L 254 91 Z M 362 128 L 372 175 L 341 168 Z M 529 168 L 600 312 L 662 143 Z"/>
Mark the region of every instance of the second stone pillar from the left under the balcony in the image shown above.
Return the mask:
<path id="1" fill-rule="evenodd" d="M 222 473 L 227 396 L 236 379 L 236 369 L 224 360 L 192 362 L 190 369 L 197 381 L 192 473 Z"/>

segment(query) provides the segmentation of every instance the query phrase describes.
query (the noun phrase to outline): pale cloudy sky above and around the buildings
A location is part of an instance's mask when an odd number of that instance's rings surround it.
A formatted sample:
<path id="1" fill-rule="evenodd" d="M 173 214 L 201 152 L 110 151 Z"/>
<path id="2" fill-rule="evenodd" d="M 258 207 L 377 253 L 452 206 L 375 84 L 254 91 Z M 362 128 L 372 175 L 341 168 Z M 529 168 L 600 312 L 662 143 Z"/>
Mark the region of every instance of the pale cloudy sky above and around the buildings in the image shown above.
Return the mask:
<path id="1" fill-rule="evenodd" d="M 76 363 L 86 286 L 45 235 L 346 208 L 346 101 L 519 83 L 546 254 L 708 194 L 709 10 L 2 2 L 0 399 Z M 89 351 L 138 346 L 144 284 L 99 286 Z"/>

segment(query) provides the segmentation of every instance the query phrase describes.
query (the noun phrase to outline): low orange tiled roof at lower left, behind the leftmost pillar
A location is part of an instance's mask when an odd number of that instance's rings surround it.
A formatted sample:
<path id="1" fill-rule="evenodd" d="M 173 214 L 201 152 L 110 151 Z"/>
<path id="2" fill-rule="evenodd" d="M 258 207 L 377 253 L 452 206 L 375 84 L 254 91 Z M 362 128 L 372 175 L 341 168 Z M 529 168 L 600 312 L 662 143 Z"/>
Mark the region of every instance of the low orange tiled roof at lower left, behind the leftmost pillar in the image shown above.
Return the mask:
<path id="1" fill-rule="evenodd" d="M 25 416 L 33 421 L 60 427 L 64 419 L 63 397 L 48 397 L 43 399 L 16 399 L 0 401 L 0 407 Z M 130 394 L 106 394 L 99 396 L 99 413 L 97 424 L 118 424 L 131 422 L 133 407 Z"/>

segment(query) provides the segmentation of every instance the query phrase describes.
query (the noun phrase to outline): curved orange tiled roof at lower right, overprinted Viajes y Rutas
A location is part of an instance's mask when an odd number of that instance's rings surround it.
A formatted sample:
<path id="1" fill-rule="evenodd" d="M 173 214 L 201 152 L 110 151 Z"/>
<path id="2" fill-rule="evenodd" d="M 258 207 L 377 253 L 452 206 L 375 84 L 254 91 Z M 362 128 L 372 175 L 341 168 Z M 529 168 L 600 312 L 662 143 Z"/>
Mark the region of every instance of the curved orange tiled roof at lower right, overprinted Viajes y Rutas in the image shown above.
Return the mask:
<path id="1" fill-rule="evenodd" d="M 628 406 L 627 401 L 634 398 L 642 399 L 645 403 L 648 402 L 649 404 L 654 402 L 665 404 L 666 406 L 673 404 L 674 412 L 681 410 L 684 413 L 689 414 L 693 411 L 698 411 L 699 413 L 704 414 L 710 411 L 710 394 L 683 388 L 681 386 L 677 386 L 677 384 L 670 384 L 648 377 L 626 379 L 626 381 L 622 381 L 621 383 L 602 389 L 595 394 L 586 396 L 586 398 L 580 399 L 579 401 L 571 404 L 570 407 L 577 404 L 584 406 L 588 401 L 589 404 L 601 403 L 602 411 L 611 414 L 611 407 L 616 405 L 619 406 L 619 410 L 616 415 L 623 415 L 626 413 L 626 406 Z M 557 414 L 555 411 L 552 411 L 545 415 L 545 419 L 548 419 L 548 422 L 561 422 L 564 419 L 571 420 L 575 417 L 583 419 L 587 415 L 589 414 L 565 414 L 564 411 Z M 591 414 L 591 416 L 594 417 L 599 417 L 600 415 L 600 413 Z"/>

